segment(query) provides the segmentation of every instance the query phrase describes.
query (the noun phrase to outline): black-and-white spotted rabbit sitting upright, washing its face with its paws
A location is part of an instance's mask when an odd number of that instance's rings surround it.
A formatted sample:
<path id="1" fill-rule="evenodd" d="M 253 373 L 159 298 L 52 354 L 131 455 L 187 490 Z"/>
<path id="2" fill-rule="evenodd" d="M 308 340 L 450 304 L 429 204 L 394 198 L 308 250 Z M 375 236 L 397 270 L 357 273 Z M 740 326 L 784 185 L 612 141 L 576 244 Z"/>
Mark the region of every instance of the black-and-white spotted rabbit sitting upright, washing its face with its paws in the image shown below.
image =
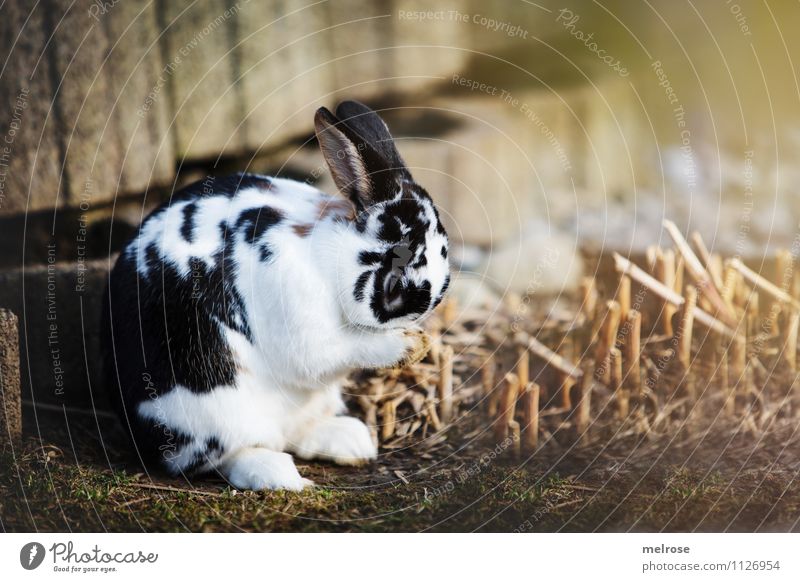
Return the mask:
<path id="1" fill-rule="evenodd" d="M 313 483 L 292 455 L 377 457 L 342 381 L 424 356 L 448 238 L 377 113 L 345 101 L 314 127 L 343 196 L 208 177 L 153 211 L 109 275 L 106 384 L 145 467 L 296 491 Z"/>

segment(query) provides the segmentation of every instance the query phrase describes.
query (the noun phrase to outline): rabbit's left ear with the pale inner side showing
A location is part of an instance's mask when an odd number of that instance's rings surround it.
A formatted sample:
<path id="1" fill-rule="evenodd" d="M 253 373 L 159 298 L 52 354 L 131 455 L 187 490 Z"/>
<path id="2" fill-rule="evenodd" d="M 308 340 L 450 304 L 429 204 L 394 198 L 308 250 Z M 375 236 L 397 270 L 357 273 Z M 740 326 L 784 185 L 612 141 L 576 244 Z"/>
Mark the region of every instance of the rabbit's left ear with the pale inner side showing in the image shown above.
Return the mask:
<path id="1" fill-rule="evenodd" d="M 359 210 L 386 200 L 394 193 L 395 172 L 366 139 L 324 107 L 314 116 L 314 129 L 336 187 Z"/>

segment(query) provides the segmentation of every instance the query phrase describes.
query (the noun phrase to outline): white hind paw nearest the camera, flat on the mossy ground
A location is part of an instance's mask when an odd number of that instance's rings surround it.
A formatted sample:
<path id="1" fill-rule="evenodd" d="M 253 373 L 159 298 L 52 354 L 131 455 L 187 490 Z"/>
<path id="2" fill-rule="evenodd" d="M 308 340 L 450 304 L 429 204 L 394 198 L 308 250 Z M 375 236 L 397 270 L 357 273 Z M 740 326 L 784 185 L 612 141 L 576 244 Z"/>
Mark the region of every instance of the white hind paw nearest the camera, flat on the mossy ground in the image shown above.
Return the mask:
<path id="1" fill-rule="evenodd" d="M 237 489 L 287 489 L 301 491 L 313 485 L 297 472 L 291 455 L 251 448 L 237 452 L 223 467 L 228 481 Z"/>

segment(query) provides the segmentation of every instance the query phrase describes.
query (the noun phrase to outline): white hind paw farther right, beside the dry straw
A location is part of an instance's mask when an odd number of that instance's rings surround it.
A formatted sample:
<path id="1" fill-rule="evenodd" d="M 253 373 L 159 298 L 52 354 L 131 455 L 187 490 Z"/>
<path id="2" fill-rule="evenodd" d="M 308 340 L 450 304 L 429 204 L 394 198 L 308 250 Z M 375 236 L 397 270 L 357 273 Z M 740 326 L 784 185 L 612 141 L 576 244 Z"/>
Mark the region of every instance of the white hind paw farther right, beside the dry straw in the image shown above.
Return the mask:
<path id="1" fill-rule="evenodd" d="M 351 416 L 333 416 L 314 426 L 294 452 L 303 459 L 325 459 L 338 465 L 363 465 L 378 457 L 367 425 Z"/>

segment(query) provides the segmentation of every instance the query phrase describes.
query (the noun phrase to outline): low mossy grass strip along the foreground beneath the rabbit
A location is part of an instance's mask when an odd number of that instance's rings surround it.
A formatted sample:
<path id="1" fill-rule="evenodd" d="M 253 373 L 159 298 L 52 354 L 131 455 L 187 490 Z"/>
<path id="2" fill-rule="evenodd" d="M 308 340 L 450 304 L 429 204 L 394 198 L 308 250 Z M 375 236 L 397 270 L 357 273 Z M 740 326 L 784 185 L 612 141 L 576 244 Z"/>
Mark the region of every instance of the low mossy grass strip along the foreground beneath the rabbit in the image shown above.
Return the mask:
<path id="1" fill-rule="evenodd" d="M 135 468 L 97 461 L 79 465 L 34 439 L 3 451 L 3 529 L 796 531 L 800 518 L 800 492 L 786 470 L 726 476 L 667 465 L 577 478 L 535 458 L 523 465 L 482 463 L 476 454 L 436 460 L 435 468 L 408 476 L 405 484 L 393 467 L 407 467 L 408 459 L 388 456 L 361 469 L 303 466 L 317 487 L 255 493 L 208 481 L 192 490 L 186 482 L 150 480 Z"/>

